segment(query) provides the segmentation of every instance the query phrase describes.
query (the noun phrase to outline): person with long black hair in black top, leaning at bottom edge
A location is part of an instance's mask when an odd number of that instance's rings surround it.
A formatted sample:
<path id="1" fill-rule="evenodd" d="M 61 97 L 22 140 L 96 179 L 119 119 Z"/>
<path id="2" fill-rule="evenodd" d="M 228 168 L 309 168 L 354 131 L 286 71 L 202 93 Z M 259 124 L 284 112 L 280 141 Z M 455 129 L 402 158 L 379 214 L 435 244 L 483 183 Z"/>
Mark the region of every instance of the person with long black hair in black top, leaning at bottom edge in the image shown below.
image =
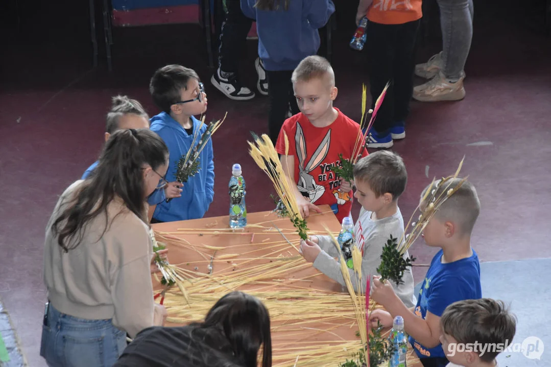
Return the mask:
<path id="1" fill-rule="evenodd" d="M 220 298 L 203 322 L 143 330 L 114 367 L 256 367 L 261 347 L 261 367 L 271 367 L 268 310 L 235 291 Z"/>

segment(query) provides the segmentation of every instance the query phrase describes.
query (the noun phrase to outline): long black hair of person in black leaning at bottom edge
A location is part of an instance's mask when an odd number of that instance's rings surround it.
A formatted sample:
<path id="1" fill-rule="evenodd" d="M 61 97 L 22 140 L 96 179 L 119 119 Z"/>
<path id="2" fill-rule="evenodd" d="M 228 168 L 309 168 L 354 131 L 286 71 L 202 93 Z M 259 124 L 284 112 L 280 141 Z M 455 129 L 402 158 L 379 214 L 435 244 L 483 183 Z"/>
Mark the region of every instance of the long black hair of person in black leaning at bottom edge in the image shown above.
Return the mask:
<path id="1" fill-rule="evenodd" d="M 272 366 L 270 317 L 256 297 L 239 291 L 228 293 L 208 311 L 204 322 L 192 325 L 222 330 L 240 365 L 256 367 L 263 346 L 262 367 Z"/>

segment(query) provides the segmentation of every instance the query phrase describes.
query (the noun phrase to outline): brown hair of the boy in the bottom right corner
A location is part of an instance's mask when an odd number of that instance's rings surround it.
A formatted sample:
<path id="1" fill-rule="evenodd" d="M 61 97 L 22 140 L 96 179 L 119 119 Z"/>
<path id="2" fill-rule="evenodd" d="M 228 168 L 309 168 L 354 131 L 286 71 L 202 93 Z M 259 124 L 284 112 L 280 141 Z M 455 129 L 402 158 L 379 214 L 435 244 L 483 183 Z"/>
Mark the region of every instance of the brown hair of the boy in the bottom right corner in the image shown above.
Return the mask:
<path id="1" fill-rule="evenodd" d="M 442 331 L 458 343 L 482 343 L 488 348 L 480 359 L 493 361 L 499 351 L 496 344 L 509 346 L 516 332 L 516 317 L 503 301 L 491 298 L 467 299 L 447 306 L 440 319 Z"/>

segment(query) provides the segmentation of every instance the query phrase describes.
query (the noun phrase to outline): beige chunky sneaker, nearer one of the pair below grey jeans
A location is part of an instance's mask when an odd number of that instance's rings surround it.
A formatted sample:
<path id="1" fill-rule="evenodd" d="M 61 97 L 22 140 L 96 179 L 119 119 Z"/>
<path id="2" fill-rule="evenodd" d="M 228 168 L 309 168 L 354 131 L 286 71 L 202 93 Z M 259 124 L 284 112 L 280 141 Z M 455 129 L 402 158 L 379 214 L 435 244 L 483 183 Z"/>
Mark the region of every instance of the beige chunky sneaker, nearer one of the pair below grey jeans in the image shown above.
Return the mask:
<path id="1" fill-rule="evenodd" d="M 464 76 L 452 83 L 446 80 L 442 72 L 439 72 L 425 84 L 414 87 L 413 98 L 421 102 L 462 100 L 465 97 L 463 79 Z"/>

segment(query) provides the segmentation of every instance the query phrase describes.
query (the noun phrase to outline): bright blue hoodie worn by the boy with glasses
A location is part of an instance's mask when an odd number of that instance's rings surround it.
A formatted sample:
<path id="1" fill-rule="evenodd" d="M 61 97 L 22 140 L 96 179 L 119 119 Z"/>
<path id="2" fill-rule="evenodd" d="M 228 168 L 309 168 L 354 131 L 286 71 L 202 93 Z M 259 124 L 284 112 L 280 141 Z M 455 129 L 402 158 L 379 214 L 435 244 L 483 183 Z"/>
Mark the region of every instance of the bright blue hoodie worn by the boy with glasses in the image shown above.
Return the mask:
<path id="1" fill-rule="evenodd" d="M 193 143 L 193 134 L 201 126 L 198 119 L 193 116 L 191 119 L 193 121 L 191 135 L 166 112 L 161 112 L 151 119 L 150 129 L 163 138 L 169 149 L 169 168 L 166 171 L 168 182 L 176 180 L 177 163 L 180 157 L 190 150 Z M 206 129 L 207 125 L 201 127 L 195 144 L 198 143 L 199 136 Z M 184 221 L 202 218 L 204 213 L 207 212 L 214 198 L 214 162 L 211 139 L 199 155 L 199 172 L 183 184 L 182 190 L 180 198 L 172 199 L 170 202 L 164 201 L 157 205 L 153 218 L 161 222 Z"/>

